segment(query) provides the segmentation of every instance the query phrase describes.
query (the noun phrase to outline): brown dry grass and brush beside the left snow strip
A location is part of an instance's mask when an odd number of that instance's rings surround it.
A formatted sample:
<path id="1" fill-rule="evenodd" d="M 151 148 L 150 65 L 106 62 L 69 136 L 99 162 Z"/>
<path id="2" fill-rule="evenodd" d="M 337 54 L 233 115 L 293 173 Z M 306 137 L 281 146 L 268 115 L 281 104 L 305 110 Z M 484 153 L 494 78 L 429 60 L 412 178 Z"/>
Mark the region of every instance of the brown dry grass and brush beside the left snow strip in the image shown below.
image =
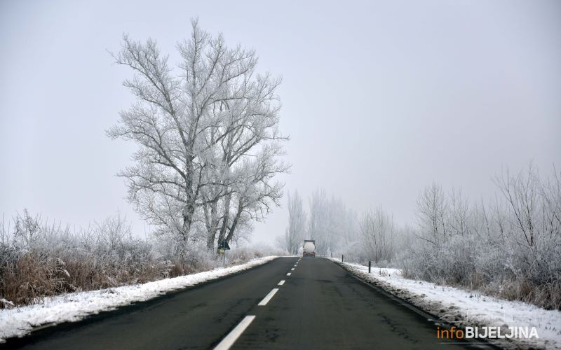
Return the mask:
<path id="1" fill-rule="evenodd" d="M 233 254 L 229 265 L 246 262 L 255 256 L 255 253 L 246 251 Z M 123 260 L 116 263 L 76 251 L 27 251 L 11 257 L 0 266 L 0 298 L 15 305 L 33 304 L 43 297 L 61 293 L 156 281 L 207 271 L 221 265 L 222 258 L 212 253 L 197 257 L 191 255 L 183 262 L 153 258 L 127 264 Z M 2 307 L 9 305 L 0 303 Z"/>

